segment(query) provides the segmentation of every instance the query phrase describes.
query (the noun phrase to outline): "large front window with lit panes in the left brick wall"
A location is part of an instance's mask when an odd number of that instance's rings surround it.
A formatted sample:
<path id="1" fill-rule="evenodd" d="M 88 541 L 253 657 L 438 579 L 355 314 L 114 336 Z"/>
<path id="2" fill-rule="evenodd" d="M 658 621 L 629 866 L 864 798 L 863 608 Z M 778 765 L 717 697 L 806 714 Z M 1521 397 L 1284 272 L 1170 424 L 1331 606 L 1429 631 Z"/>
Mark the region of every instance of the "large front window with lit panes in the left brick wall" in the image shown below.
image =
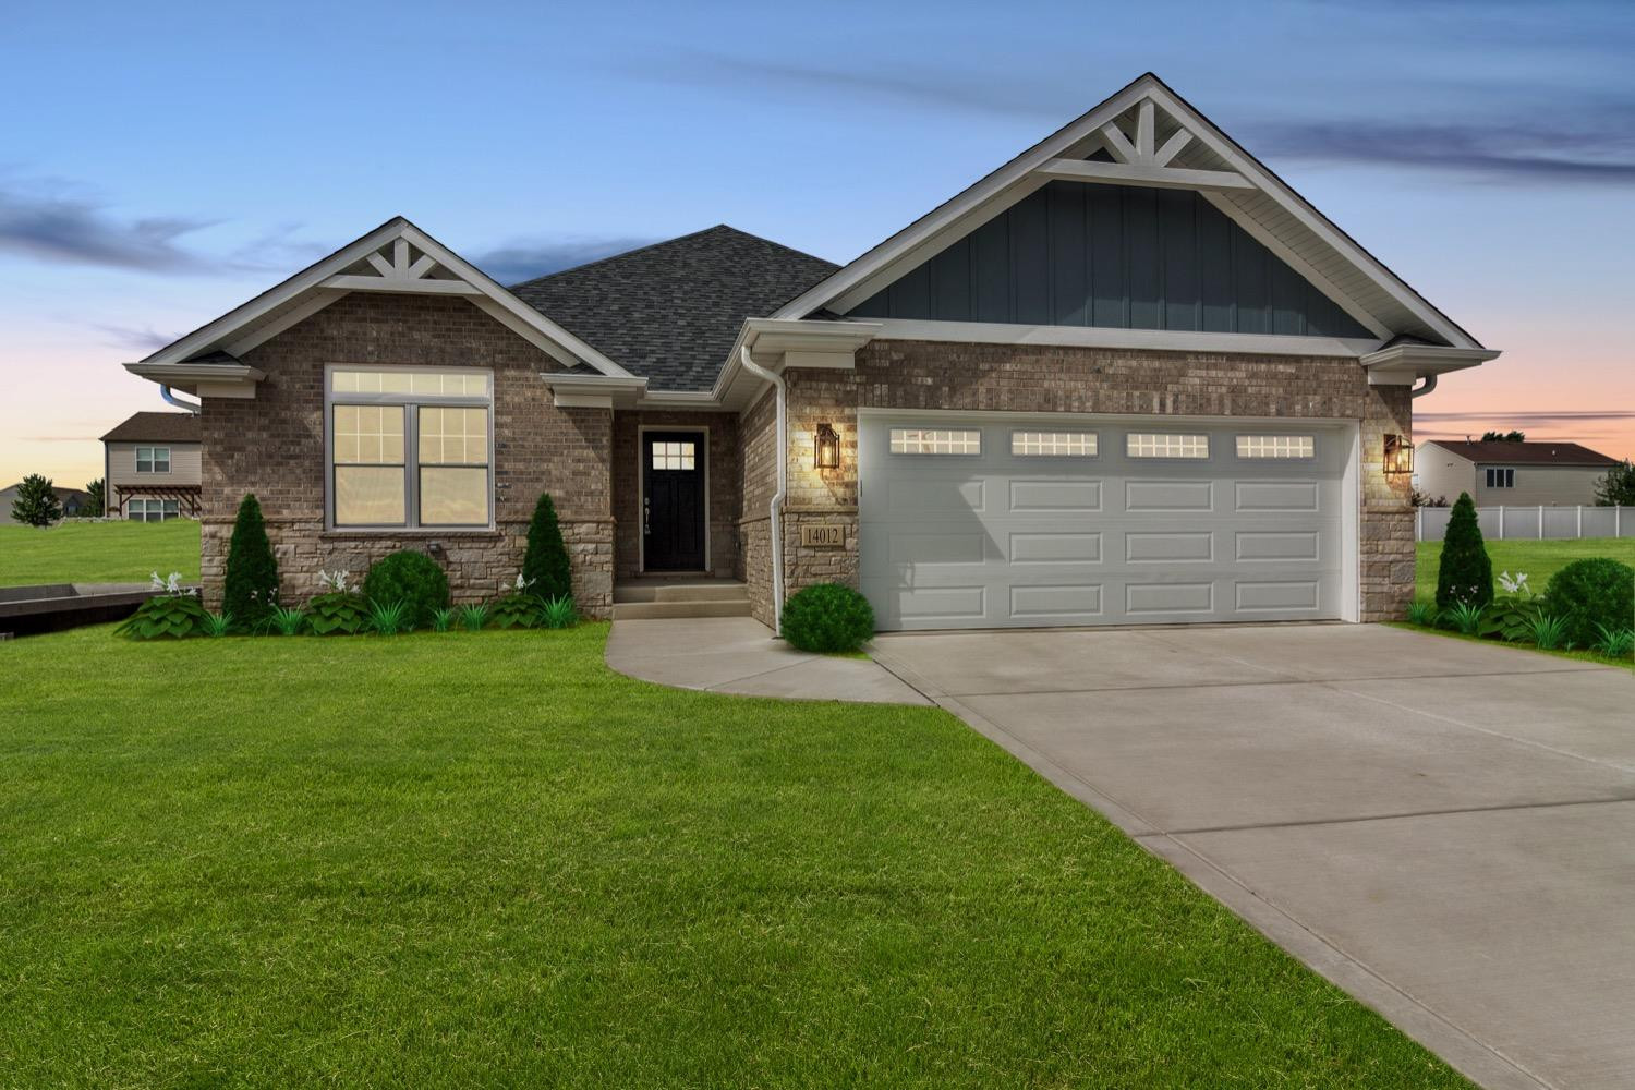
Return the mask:
<path id="1" fill-rule="evenodd" d="M 329 402 L 335 526 L 492 525 L 487 371 L 337 368 Z"/>

